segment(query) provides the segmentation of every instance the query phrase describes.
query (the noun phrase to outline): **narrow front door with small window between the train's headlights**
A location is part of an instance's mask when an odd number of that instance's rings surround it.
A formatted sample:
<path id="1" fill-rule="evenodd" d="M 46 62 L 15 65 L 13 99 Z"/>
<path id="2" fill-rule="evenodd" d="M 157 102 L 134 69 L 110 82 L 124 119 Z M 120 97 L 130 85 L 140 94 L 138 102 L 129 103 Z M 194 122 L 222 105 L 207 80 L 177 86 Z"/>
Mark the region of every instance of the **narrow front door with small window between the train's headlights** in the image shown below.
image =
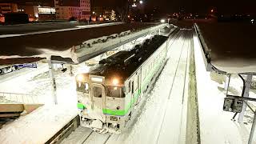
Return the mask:
<path id="1" fill-rule="evenodd" d="M 106 109 L 105 105 L 105 87 L 102 84 L 92 84 L 92 104 L 94 111 L 102 117 L 102 122 L 105 121 L 105 114 L 103 109 Z"/>

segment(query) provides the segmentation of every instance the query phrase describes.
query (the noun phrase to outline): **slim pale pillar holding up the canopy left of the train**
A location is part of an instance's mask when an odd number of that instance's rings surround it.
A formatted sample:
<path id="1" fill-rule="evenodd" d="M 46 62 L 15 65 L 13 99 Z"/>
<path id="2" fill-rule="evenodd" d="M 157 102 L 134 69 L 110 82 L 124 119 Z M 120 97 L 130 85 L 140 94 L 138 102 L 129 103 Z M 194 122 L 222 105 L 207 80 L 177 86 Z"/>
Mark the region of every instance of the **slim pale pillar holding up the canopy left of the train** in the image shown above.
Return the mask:
<path id="1" fill-rule="evenodd" d="M 49 75 L 50 75 L 50 83 L 52 86 L 51 89 L 52 89 L 53 102 L 55 105 L 57 105 L 58 104 L 57 94 L 56 94 L 57 87 L 56 87 L 56 81 L 55 81 L 55 76 L 54 76 L 54 66 L 51 63 L 51 58 L 47 58 L 47 62 L 48 62 L 48 66 L 49 66 Z"/>

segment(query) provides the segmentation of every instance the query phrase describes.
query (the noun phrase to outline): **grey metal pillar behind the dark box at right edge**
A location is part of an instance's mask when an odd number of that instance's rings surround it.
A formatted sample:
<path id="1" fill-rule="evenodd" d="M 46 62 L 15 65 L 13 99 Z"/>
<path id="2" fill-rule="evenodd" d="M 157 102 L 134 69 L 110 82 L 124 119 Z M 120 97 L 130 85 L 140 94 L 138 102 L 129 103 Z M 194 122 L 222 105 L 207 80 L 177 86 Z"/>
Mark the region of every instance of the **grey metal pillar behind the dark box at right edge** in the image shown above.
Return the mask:
<path id="1" fill-rule="evenodd" d="M 251 85 L 252 78 L 253 78 L 252 75 L 247 75 L 247 77 L 246 77 L 246 88 L 245 88 L 243 97 L 249 97 L 249 91 L 250 91 L 250 85 Z M 246 103 L 244 102 L 242 105 L 242 111 L 238 116 L 238 122 L 243 122 L 243 116 L 245 114 L 245 111 L 246 111 Z"/>

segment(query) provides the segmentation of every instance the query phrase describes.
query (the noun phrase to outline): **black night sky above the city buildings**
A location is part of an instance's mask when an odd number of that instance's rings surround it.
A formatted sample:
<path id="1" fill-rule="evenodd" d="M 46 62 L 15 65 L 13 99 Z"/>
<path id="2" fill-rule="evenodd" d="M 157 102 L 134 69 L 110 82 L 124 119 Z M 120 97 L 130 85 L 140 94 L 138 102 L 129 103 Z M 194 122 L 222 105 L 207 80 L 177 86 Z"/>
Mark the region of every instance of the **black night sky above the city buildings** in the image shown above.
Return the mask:
<path id="1" fill-rule="evenodd" d="M 53 2 L 53 0 L 0 0 L 0 2 Z M 122 6 L 127 0 L 91 0 L 95 6 Z M 178 12 L 185 10 L 186 12 L 194 12 L 204 14 L 209 12 L 211 8 L 215 8 L 220 13 L 256 13 L 256 0 L 143 0 L 145 9 L 151 10 L 158 7 L 162 13 Z"/>

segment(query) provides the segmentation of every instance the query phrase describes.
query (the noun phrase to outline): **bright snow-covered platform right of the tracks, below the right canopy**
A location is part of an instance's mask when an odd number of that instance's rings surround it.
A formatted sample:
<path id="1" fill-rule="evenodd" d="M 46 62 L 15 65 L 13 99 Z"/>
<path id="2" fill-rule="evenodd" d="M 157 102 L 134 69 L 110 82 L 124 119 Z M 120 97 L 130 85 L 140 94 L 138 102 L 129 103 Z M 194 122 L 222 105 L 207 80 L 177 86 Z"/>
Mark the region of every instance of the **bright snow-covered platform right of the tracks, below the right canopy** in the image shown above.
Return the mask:
<path id="1" fill-rule="evenodd" d="M 213 74 L 210 75 L 210 72 L 206 72 L 199 49 L 198 38 L 194 37 L 201 143 L 247 143 L 251 124 L 246 125 L 244 123 L 233 122 L 230 119 L 234 116 L 234 113 L 222 110 L 224 98 L 226 97 L 226 93 L 223 90 L 223 78 L 221 78 L 222 76 L 214 76 Z M 216 80 L 219 78 L 222 80 Z M 238 78 L 232 78 L 230 85 L 230 93 L 241 94 L 242 83 Z M 253 95 L 255 94 L 251 96 Z M 255 137 L 256 135 L 254 134 L 254 142 L 256 142 Z"/>

